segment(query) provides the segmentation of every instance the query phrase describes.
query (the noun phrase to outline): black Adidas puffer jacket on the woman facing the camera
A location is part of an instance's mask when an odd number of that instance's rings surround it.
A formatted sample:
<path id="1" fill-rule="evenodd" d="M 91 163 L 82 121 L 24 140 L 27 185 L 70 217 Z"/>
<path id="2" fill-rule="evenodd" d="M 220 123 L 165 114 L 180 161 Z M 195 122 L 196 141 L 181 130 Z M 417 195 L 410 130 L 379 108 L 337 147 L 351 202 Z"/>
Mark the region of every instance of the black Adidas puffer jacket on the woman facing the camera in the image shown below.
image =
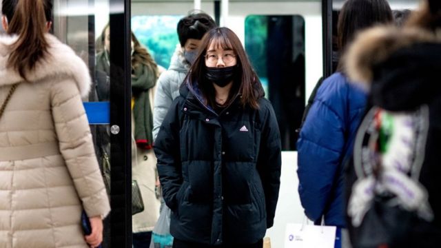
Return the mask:
<path id="1" fill-rule="evenodd" d="M 238 97 L 216 114 L 187 85 L 154 144 L 170 231 L 209 245 L 257 242 L 273 225 L 280 185 L 274 110 L 266 99 L 243 108 Z"/>

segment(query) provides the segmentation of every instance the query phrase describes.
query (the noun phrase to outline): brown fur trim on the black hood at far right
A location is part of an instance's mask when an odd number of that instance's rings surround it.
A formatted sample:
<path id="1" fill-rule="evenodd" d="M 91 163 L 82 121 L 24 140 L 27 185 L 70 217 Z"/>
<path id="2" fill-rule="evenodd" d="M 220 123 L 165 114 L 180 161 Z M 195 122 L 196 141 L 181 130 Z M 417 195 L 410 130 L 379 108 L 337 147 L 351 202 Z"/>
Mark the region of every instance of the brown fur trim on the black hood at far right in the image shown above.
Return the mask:
<path id="1" fill-rule="evenodd" d="M 441 42 L 440 37 L 420 28 L 371 28 L 358 35 L 342 59 L 351 81 L 362 83 L 368 89 L 375 65 L 386 61 L 393 52 L 416 43 Z"/>

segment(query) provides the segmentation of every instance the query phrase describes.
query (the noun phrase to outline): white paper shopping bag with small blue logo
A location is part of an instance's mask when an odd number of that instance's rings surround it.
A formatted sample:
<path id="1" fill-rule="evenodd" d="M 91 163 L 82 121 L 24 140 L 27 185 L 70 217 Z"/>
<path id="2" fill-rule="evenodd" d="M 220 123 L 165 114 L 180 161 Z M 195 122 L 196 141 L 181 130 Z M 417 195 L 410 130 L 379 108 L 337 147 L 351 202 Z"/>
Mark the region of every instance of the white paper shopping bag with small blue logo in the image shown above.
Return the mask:
<path id="1" fill-rule="evenodd" d="M 335 226 L 288 223 L 285 231 L 285 248 L 334 248 Z"/>

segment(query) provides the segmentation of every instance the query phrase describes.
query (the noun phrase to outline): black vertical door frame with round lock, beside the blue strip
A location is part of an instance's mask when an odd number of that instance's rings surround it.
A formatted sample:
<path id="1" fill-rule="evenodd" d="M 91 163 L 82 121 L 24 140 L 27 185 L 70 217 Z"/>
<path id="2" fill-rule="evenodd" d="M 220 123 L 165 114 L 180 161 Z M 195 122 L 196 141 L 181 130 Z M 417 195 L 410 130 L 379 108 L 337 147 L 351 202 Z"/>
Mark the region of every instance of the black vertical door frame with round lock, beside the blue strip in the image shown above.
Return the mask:
<path id="1" fill-rule="evenodd" d="M 130 0 L 110 0 L 112 247 L 132 247 L 130 3 Z"/>

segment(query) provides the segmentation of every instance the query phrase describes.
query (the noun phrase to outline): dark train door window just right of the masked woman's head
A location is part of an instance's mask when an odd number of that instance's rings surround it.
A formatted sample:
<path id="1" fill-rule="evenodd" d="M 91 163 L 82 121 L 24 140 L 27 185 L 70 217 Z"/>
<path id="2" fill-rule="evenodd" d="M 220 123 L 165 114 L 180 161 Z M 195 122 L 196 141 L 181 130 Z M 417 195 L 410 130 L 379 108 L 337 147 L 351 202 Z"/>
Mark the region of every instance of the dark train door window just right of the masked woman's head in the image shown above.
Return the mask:
<path id="1" fill-rule="evenodd" d="M 300 15 L 250 15 L 245 49 L 276 112 L 283 150 L 296 150 L 305 107 L 305 20 Z"/>

